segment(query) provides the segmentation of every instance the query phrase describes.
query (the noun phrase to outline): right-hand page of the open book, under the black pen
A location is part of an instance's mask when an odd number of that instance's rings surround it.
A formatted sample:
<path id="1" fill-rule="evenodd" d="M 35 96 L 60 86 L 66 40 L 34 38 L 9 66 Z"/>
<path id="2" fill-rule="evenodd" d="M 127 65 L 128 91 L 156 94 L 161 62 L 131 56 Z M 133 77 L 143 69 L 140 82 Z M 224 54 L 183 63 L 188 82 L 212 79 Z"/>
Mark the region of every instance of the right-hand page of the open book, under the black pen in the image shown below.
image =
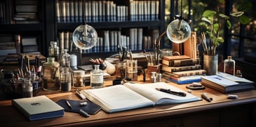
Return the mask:
<path id="1" fill-rule="evenodd" d="M 198 98 L 192 94 L 189 94 L 183 91 L 182 89 L 174 87 L 173 85 L 167 84 L 165 82 L 156 82 L 156 83 L 150 83 L 150 84 L 126 83 L 123 85 L 128 87 L 129 89 L 132 89 L 133 91 L 136 91 L 142 96 L 149 98 L 150 100 L 153 100 L 156 103 L 156 105 L 186 103 L 190 101 L 201 100 L 201 98 Z M 187 94 L 187 96 L 176 96 L 173 94 L 167 94 L 162 91 L 157 91 L 156 88 L 170 89 L 171 91 L 184 92 L 185 94 Z"/>

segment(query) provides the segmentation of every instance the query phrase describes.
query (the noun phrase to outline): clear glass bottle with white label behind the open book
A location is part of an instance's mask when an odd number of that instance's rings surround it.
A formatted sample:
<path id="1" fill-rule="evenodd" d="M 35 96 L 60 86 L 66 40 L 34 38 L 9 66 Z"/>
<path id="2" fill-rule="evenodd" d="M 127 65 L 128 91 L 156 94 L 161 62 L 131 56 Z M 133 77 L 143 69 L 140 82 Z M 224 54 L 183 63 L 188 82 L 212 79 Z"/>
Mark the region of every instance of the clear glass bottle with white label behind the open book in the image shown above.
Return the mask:
<path id="1" fill-rule="evenodd" d="M 90 70 L 90 89 L 103 87 L 103 71 L 100 65 L 95 64 L 94 69 Z"/>

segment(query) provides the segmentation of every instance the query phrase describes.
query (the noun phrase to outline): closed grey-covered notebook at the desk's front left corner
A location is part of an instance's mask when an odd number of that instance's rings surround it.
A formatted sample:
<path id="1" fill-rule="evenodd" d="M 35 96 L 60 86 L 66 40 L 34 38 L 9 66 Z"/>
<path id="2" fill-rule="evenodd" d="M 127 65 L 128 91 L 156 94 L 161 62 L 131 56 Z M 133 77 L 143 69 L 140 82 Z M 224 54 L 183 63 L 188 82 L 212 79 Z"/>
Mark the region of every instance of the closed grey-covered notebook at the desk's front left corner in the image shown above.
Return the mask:
<path id="1" fill-rule="evenodd" d="M 64 116 L 64 108 L 46 96 L 18 98 L 11 103 L 30 121 Z"/>

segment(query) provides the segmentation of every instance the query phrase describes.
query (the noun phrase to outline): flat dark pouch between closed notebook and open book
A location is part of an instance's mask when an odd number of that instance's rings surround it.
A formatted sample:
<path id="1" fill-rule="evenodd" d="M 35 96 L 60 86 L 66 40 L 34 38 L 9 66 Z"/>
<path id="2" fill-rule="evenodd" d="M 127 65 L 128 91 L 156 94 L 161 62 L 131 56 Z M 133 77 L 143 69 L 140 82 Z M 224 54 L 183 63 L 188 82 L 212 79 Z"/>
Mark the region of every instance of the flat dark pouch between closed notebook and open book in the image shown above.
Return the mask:
<path id="1" fill-rule="evenodd" d="M 72 105 L 72 108 L 69 108 L 67 103 L 67 99 L 61 99 L 58 100 L 56 103 L 64 108 L 66 112 L 77 112 L 79 113 L 79 110 L 83 110 L 84 112 L 87 112 L 88 114 L 96 114 L 101 110 L 101 107 L 95 103 L 91 103 L 88 100 L 68 100 L 70 105 Z M 87 105 L 81 106 L 80 103 L 87 102 Z"/>

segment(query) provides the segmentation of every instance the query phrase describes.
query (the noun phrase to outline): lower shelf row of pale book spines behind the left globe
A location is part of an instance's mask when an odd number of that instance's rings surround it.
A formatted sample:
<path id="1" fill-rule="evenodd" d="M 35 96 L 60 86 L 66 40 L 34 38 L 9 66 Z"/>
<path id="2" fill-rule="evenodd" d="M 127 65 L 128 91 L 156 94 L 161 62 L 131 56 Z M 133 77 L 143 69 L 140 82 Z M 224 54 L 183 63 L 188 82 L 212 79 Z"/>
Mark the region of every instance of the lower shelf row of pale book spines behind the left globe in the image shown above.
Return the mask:
<path id="1" fill-rule="evenodd" d="M 126 34 L 123 34 L 122 31 L 99 31 L 96 45 L 89 50 L 83 50 L 83 53 L 116 52 L 118 45 L 133 51 L 151 50 L 153 39 L 159 36 L 159 30 L 151 31 L 151 35 L 144 35 L 142 28 L 128 29 Z M 77 47 L 73 45 L 72 34 L 71 31 L 58 33 L 60 49 L 77 50 Z"/>

